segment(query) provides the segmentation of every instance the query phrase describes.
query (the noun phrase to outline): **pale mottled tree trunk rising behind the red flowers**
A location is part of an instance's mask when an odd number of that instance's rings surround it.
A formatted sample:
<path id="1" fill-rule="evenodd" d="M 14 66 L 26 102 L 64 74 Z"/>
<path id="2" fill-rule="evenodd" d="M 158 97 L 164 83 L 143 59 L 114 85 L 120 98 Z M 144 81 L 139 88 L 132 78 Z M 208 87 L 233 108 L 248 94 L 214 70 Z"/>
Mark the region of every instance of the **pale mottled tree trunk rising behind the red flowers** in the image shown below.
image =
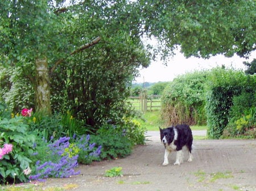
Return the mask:
<path id="1" fill-rule="evenodd" d="M 36 59 L 36 112 L 51 115 L 48 62 L 46 57 Z"/>

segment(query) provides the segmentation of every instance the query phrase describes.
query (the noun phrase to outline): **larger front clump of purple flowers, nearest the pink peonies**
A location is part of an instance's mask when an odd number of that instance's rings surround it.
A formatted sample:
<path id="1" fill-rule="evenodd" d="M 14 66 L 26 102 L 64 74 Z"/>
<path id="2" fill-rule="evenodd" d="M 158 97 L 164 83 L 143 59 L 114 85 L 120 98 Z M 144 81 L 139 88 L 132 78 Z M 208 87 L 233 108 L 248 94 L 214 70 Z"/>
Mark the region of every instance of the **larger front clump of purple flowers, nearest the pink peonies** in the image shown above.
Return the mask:
<path id="1" fill-rule="evenodd" d="M 48 177 L 63 178 L 80 173 L 80 171 L 75 172 L 74 169 L 78 165 L 78 151 L 69 143 L 69 137 L 61 137 L 56 141 L 53 139 L 49 142 L 43 141 L 37 146 L 37 151 L 34 154 L 34 160 L 37 161 L 29 177 L 30 180 L 43 180 Z"/>

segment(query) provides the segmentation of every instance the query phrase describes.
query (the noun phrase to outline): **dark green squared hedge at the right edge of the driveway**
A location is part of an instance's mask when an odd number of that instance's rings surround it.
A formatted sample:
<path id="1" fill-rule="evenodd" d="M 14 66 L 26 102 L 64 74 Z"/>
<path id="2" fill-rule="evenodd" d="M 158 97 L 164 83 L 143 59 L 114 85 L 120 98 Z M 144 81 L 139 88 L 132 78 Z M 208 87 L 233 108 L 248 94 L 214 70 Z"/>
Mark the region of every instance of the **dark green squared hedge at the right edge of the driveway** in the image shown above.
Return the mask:
<path id="1" fill-rule="evenodd" d="M 206 105 L 210 138 L 220 138 L 226 128 L 232 129 L 230 135 L 244 133 L 246 124 L 242 115 L 255 105 L 255 85 L 255 76 L 245 75 L 242 71 L 212 70 Z M 241 127 L 237 128 L 237 125 Z"/>

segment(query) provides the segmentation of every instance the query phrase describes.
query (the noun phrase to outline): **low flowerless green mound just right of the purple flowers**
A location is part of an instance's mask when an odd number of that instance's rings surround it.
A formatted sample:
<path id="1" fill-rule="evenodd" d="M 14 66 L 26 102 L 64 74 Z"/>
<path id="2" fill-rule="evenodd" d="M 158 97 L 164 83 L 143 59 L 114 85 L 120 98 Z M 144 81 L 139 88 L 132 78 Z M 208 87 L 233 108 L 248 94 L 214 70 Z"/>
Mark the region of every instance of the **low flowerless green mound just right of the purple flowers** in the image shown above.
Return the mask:
<path id="1" fill-rule="evenodd" d="M 90 140 L 96 146 L 101 145 L 101 160 L 123 158 L 130 155 L 133 148 L 133 143 L 126 137 L 125 132 L 119 131 L 115 125 L 102 126 L 97 135 L 90 136 Z"/>

